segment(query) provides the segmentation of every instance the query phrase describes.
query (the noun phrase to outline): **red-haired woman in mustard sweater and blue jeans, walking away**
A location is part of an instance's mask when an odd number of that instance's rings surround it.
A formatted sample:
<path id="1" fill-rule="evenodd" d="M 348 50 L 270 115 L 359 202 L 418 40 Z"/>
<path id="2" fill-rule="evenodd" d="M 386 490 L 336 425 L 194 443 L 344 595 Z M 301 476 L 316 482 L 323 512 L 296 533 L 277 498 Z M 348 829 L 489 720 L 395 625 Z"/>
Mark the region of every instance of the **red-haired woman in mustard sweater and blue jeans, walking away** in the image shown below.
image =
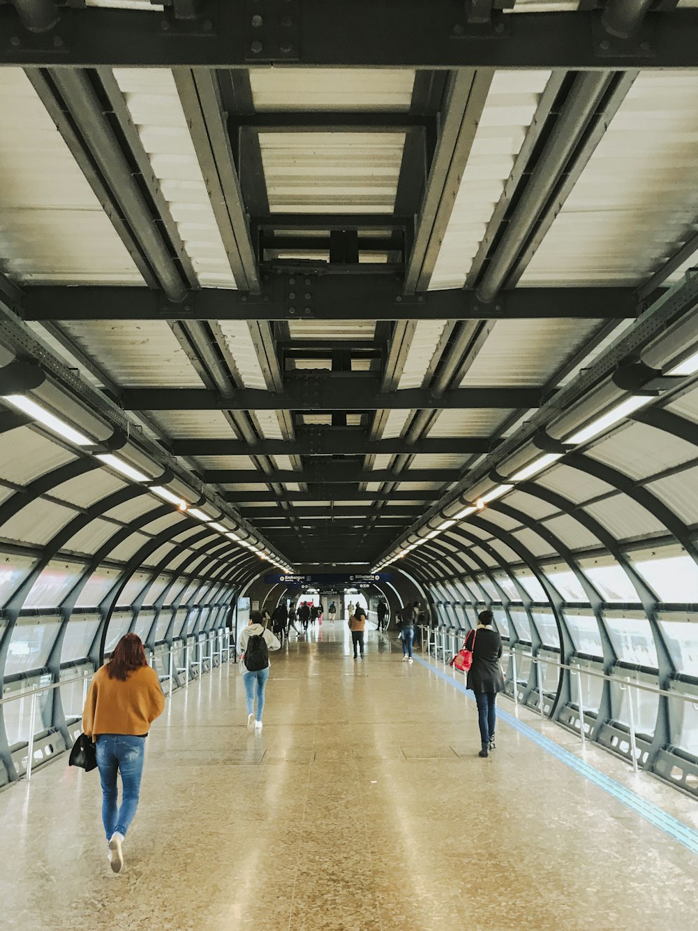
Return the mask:
<path id="1" fill-rule="evenodd" d="M 121 845 L 138 807 L 145 738 L 164 708 L 165 695 L 157 673 L 148 666 L 141 638 L 126 634 L 110 661 L 95 673 L 83 709 L 83 730 L 97 744 L 101 819 L 114 872 L 124 865 Z M 120 807 L 117 772 L 123 789 Z"/>

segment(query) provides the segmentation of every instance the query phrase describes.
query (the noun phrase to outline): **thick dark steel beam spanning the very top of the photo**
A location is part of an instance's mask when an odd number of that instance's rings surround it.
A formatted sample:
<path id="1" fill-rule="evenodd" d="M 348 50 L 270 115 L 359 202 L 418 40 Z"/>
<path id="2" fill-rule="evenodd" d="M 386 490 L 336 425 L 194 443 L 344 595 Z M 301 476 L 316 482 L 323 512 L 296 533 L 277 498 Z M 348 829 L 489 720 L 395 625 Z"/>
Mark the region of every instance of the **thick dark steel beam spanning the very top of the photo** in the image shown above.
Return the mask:
<path id="1" fill-rule="evenodd" d="M 327 67 L 393 68 L 694 68 L 698 11 L 650 13 L 637 36 L 616 40 L 596 10 L 508 13 L 486 38 L 453 0 L 299 0 L 288 27 L 284 5 L 265 7 L 264 26 L 250 25 L 245 4 L 222 3 L 204 24 L 176 20 L 166 8 L 61 7 L 59 24 L 37 37 L 17 10 L 0 7 L 0 47 L 12 65 L 248 68 L 257 62 Z M 288 28 L 289 38 L 278 35 Z M 53 40 L 60 38 L 60 43 Z"/>

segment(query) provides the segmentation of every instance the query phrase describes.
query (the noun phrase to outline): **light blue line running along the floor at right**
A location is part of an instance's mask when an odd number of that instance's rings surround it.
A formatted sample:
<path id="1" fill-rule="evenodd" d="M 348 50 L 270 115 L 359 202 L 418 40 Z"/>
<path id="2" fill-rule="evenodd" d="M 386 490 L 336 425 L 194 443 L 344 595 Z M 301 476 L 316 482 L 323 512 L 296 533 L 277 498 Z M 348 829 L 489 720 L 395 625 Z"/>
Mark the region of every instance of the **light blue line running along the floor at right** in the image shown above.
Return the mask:
<path id="1" fill-rule="evenodd" d="M 434 672 L 439 677 L 439 679 L 450 682 L 450 684 L 455 686 L 459 692 L 463 692 L 463 695 L 467 695 L 469 698 L 472 698 L 471 695 L 468 695 L 463 682 L 459 682 L 457 679 L 454 679 L 452 676 L 448 675 L 446 672 L 443 672 L 436 666 L 432 666 L 431 663 L 427 663 L 427 661 L 421 656 L 415 655 L 414 658 L 418 663 L 422 663 L 424 667 L 429 669 L 430 672 Z M 691 853 L 698 854 L 698 832 L 683 824 L 678 820 L 678 818 L 667 814 L 657 805 L 651 802 L 647 802 L 645 799 L 639 796 L 637 792 L 634 792 L 632 789 L 627 789 L 620 782 L 616 782 L 615 779 L 611 779 L 611 776 L 605 776 L 603 773 L 600 773 L 587 762 L 578 759 L 576 756 L 574 756 L 573 753 L 570 753 L 569 750 L 564 749 L 564 747 L 559 747 L 553 740 L 550 740 L 548 737 L 539 734 L 538 731 L 530 727 L 528 724 L 524 724 L 524 722 L 519 721 L 518 718 L 516 718 L 513 714 L 509 714 L 508 711 L 503 711 L 502 708 L 497 708 L 497 717 L 500 718 L 503 722 L 509 724 L 510 727 L 513 727 L 515 730 L 517 730 L 519 734 L 523 734 L 525 737 L 528 737 L 529 740 L 532 740 L 534 744 L 538 744 L 538 746 L 544 749 L 547 753 L 552 754 L 557 758 L 557 760 L 563 762 L 566 766 L 569 766 L 570 769 L 573 769 L 576 773 L 579 773 L 580 776 L 584 776 L 585 779 L 593 782 L 596 786 L 598 786 L 599 789 L 603 789 L 605 792 L 608 792 L 609 795 L 612 795 L 614 799 L 622 802 L 640 817 L 645 818 L 645 820 L 649 821 L 650 824 L 655 828 L 663 830 L 664 833 L 668 834 L 669 837 L 673 838 L 673 840 L 678 841 L 678 843 L 682 843 L 684 847 L 688 847 Z"/>

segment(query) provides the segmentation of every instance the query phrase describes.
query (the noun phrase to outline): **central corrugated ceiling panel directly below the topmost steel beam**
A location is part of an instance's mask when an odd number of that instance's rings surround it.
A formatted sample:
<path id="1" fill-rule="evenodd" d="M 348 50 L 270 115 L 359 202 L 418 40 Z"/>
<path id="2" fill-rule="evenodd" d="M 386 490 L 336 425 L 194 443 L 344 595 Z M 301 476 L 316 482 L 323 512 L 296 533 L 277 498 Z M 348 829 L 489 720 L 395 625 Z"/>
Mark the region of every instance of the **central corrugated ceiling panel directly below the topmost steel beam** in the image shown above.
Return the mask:
<path id="1" fill-rule="evenodd" d="M 409 110 L 414 71 L 378 68 L 250 68 L 256 110 Z"/>

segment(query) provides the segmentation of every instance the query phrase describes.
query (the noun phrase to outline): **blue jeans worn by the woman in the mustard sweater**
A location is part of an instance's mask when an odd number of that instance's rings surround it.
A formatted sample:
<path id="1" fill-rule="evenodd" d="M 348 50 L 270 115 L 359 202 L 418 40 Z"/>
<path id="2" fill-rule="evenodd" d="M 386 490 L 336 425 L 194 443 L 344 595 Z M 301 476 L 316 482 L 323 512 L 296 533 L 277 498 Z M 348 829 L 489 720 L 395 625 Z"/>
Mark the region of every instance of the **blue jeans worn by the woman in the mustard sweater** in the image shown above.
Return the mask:
<path id="1" fill-rule="evenodd" d="M 143 775 L 145 737 L 101 734 L 97 738 L 97 766 L 101 780 L 101 820 L 109 840 L 118 831 L 126 837 L 138 808 Z M 116 804 L 116 773 L 121 773 L 121 807 Z"/>

